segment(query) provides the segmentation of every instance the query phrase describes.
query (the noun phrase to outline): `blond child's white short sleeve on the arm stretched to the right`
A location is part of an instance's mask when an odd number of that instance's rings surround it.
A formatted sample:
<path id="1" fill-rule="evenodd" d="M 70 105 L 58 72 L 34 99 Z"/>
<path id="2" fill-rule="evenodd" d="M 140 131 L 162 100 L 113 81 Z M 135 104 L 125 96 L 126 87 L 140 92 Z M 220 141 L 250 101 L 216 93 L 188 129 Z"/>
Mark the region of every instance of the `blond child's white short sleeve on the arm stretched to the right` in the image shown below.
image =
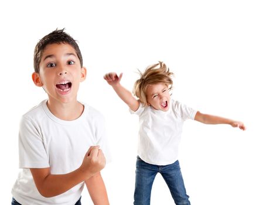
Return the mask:
<path id="1" fill-rule="evenodd" d="M 193 108 L 190 108 L 179 101 L 175 102 L 175 110 L 176 112 L 178 112 L 178 115 L 180 116 L 180 118 L 183 119 L 183 121 L 185 121 L 186 119 L 194 119 L 197 112 Z"/>

